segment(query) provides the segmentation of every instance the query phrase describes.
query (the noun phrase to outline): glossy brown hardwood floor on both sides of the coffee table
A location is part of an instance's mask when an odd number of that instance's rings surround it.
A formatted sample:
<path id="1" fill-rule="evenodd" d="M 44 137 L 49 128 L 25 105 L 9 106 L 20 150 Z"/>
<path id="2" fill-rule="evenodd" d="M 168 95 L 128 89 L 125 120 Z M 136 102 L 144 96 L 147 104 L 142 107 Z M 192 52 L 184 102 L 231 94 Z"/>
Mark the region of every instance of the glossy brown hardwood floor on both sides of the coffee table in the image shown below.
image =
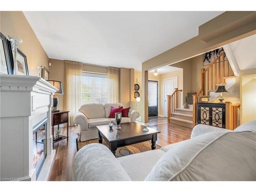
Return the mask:
<path id="1" fill-rule="evenodd" d="M 161 120 L 159 120 L 161 121 Z M 156 122 L 155 122 L 156 123 Z M 170 143 L 176 143 L 190 138 L 192 129 L 182 127 L 171 123 L 150 125 L 152 129 L 156 129 L 161 133 L 158 134 L 156 144 L 165 146 Z M 66 134 L 66 127 L 63 127 L 63 134 Z M 54 144 L 56 150 L 55 162 L 53 165 L 50 181 L 72 181 L 74 156 L 76 154 L 76 126 L 70 126 L 69 141 L 59 141 Z"/>

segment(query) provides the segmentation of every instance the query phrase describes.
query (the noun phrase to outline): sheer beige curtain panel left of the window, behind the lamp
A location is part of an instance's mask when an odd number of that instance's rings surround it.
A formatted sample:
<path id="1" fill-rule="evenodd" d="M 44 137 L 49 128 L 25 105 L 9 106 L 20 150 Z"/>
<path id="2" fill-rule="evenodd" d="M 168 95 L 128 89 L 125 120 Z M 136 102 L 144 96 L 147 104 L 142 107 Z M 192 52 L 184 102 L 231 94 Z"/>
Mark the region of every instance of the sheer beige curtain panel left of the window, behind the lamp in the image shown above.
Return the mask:
<path id="1" fill-rule="evenodd" d="M 81 106 L 82 63 L 65 60 L 65 110 L 69 111 L 69 124 L 74 125 L 73 116 Z"/>

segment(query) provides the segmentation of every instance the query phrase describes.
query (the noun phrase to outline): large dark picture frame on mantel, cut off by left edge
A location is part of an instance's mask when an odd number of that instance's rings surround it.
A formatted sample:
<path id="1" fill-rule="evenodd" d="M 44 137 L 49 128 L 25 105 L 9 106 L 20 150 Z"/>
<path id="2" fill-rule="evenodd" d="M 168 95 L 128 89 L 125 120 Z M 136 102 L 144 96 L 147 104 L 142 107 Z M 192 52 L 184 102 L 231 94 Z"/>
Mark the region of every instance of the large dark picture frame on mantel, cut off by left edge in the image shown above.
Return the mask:
<path id="1" fill-rule="evenodd" d="M 0 74 L 13 74 L 10 62 L 7 39 L 3 33 L 0 32 Z"/>

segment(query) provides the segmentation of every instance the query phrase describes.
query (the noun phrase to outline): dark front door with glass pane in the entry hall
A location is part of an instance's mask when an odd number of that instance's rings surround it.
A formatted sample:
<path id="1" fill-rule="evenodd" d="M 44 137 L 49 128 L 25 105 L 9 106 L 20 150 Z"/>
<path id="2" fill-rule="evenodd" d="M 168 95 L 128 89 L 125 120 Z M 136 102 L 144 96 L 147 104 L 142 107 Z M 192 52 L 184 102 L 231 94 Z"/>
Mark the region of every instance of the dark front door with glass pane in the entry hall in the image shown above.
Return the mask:
<path id="1" fill-rule="evenodd" d="M 148 117 L 158 116 L 158 81 L 148 81 Z"/>

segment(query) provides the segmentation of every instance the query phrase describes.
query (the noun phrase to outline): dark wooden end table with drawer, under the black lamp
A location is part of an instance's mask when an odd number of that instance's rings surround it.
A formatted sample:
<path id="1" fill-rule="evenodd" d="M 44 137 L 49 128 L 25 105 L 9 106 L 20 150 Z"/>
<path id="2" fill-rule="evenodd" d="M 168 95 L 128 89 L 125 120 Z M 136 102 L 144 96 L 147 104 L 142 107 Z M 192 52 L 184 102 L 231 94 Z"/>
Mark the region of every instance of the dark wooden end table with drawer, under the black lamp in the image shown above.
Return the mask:
<path id="1" fill-rule="evenodd" d="M 59 130 L 59 125 L 67 123 L 67 136 L 62 135 L 60 139 L 54 139 L 54 125 L 58 125 L 58 130 Z M 53 143 L 61 141 L 63 139 L 67 139 L 69 141 L 69 111 L 59 111 L 59 112 L 53 112 L 52 113 L 52 136 L 53 136 Z"/>

